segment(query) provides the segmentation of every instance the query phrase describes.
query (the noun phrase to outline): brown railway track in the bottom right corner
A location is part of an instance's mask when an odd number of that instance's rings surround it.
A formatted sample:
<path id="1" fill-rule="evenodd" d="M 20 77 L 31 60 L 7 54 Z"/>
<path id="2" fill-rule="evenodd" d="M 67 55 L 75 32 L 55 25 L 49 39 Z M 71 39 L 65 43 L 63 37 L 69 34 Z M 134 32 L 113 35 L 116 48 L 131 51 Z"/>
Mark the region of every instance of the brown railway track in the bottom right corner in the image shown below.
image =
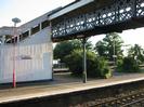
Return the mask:
<path id="1" fill-rule="evenodd" d="M 89 103 L 88 107 L 144 107 L 144 90 L 102 102 Z"/>

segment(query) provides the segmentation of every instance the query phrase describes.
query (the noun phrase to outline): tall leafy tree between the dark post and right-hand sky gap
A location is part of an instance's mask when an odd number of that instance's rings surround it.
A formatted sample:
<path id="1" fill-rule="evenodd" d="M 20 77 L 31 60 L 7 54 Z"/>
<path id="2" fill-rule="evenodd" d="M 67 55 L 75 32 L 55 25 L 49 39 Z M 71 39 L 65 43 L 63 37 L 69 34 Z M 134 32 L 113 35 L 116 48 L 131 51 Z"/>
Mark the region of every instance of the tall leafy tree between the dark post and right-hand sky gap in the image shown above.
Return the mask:
<path id="1" fill-rule="evenodd" d="M 116 32 L 112 32 L 107 34 L 103 40 L 99 41 L 94 49 L 100 56 L 113 61 L 114 55 L 118 58 L 122 56 L 122 43 L 123 41 L 120 36 Z"/>

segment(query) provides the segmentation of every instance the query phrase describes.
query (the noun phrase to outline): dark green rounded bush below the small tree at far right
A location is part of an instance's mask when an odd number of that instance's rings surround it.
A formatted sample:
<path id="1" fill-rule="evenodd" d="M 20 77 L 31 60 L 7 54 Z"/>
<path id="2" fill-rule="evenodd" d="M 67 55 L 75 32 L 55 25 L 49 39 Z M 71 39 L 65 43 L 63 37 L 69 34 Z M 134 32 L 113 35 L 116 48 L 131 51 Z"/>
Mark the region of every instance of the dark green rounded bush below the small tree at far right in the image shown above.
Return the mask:
<path id="1" fill-rule="evenodd" d="M 122 62 L 117 65 L 118 71 L 121 72 L 139 72 L 139 63 L 133 57 L 125 57 Z"/>

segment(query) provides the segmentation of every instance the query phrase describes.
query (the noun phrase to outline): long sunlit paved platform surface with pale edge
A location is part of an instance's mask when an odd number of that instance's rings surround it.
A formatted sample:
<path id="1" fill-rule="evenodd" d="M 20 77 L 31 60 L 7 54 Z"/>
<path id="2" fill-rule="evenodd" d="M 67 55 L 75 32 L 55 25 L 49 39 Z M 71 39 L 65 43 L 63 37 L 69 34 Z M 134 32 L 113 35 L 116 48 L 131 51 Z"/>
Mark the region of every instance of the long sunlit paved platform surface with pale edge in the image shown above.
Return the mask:
<path id="1" fill-rule="evenodd" d="M 144 73 L 117 76 L 110 79 L 99 79 L 99 80 L 88 81 L 87 83 L 70 82 L 70 83 L 61 83 L 61 84 L 51 84 L 51 85 L 43 84 L 43 85 L 22 86 L 16 89 L 5 89 L 5 90 L 0 90 L 0 104 L 29 99 L 35 97 L 70 93 L 76 91 L 83 91 L 95 88 L 103 88 L 103 86 L 115 85 L 119 83 L 127 83 L 139 80 L 144 80 Z"/>

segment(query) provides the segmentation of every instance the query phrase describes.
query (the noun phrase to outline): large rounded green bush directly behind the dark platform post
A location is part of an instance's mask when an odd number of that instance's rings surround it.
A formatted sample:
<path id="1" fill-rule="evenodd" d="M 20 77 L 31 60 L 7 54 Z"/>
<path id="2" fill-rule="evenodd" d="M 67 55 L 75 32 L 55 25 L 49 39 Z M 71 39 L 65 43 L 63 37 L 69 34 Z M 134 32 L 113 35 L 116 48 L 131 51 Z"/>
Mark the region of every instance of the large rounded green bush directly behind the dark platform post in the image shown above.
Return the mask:
<path id="1" fill-rule="evenodd" d="M 65 61 L 69 70 L 75 76 L 82 75 L 82 51 L 75 50 L 70 55 L 66 56 Z M 88 77 L 103 77 L 109 78 L 112 71 L 109 70 L 107 63 L 102 57 L 96 57 L 95 53 L 87 52 L 87 73 Z"/>

